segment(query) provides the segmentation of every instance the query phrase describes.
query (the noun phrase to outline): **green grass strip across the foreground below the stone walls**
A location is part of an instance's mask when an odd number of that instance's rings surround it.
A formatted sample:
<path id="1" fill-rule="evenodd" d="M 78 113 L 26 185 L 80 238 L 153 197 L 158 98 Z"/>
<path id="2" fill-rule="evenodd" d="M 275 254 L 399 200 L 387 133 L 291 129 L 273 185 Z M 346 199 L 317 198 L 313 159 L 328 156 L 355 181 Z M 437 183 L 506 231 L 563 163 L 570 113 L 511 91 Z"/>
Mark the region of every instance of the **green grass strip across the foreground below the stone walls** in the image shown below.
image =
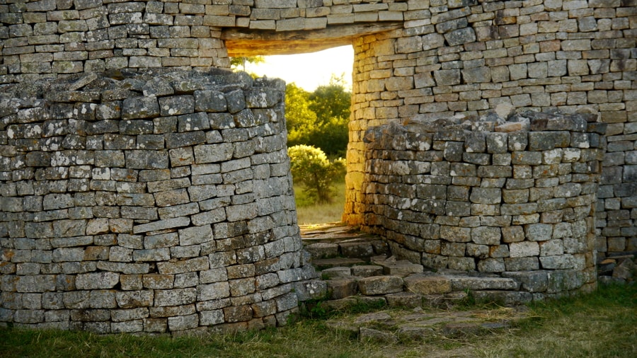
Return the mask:
<path id="1" fill-rule="evenodd" d="M 359 342 L 307 318 L 283 328 L 200 337 L 0 328 L 0 357 L 637 357 L 637 285 L 529 309 L 531 318 L 508 330 L 382 344 Z"/>

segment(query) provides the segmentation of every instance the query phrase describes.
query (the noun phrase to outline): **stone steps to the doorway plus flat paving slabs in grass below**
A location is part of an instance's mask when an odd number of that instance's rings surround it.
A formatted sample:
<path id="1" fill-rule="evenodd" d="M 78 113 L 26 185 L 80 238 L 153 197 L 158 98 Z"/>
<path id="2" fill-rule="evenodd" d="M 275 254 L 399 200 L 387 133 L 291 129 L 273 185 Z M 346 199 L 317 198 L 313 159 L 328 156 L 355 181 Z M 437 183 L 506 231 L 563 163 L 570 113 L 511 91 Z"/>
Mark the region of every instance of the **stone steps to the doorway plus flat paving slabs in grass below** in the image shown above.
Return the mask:
<path id="1" fill-rule="evenodd" d="M 301 229 L 305 249 L 322 279 L 314 281 L 314 292 L 319 287 L 327 289 L 328 300 L 319 305 L 336 311 L 357 304 L 384 307 L 326 321 L 329 328 L 344 335 L 362 341 L 421 341 L 489 334 L 527 318 L 527 307 L 518 304 L 531 301 L 532 296 L 517 291 L 520 282 L 512 278 L 451 270 L 432 272 L 423 265 L 396 260 L 381 238 L 342 224 Z M 449 309 L 468 300 L 469 294 L 476 301 L 510 306 Z"/>

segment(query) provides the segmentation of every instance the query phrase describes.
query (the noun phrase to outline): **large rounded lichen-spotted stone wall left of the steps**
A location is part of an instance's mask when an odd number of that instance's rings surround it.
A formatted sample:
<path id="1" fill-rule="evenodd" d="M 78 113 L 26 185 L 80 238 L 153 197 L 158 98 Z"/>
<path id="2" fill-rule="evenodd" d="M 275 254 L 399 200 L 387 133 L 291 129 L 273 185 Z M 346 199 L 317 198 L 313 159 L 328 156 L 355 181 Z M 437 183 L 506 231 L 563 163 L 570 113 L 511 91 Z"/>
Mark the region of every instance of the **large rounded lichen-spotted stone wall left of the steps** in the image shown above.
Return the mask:
<path id="1" fill-rule="evenodd" d="M 0 324 L 285 324 L 315 274 L 296 225 L 284 92 L 223 71 L 3 88 Z"/>

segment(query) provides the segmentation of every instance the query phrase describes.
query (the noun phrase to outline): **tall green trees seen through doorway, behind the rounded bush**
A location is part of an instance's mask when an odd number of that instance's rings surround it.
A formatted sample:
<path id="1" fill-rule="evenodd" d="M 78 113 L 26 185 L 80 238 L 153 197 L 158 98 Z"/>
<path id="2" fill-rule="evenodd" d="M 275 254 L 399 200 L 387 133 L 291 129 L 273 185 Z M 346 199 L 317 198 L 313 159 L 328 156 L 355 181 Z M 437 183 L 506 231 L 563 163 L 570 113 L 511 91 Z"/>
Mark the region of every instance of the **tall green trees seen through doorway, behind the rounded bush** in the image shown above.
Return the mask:
<path id="1" fill-rule="evenodd" d="M 330 84 L 314 92 L 289 83 L 285 91 L 288 146 L 305 144 L 329 156 L 344 156 L 348 146 L 348 122 L 352 93 L 343 76 L 332 76 Z"/>

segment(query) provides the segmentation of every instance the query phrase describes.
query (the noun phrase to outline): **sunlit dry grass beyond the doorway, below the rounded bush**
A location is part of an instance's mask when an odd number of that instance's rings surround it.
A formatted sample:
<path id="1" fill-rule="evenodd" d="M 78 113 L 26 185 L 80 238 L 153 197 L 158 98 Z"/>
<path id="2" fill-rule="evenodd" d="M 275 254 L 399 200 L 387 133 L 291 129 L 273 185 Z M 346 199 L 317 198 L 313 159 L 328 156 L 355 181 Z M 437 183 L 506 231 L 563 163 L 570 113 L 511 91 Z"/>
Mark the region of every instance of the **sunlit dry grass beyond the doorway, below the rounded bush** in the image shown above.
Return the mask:
<path id="1" fill-rule="evenodd" d="M 335 183 L 334 186 L 332 202 L 314 204 L 308 200 L 301 185 L 294 185 L 299 225 L 326 224 L 342 220 L 343 208 L 345 207 L 345 179 Z"/>

